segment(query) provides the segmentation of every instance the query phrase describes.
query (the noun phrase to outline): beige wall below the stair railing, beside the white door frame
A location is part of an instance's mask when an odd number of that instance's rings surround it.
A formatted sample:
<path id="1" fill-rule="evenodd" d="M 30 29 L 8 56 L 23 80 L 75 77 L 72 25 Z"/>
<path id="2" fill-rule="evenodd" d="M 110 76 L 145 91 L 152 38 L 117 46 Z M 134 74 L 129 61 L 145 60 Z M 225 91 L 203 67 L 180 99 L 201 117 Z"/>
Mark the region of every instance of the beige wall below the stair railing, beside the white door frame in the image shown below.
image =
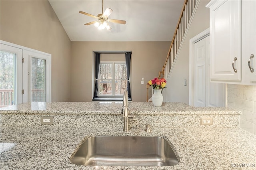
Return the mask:
<path id="1" fill-rule="evenodd" d="M 180 48 L 176 63 L 168 77 L 165 89 L 165 100 L 169 102 L 184 102 L 188 104 L 189 93 L 189 40 L 210 27 L 210 12 L 205 5 L 209 0 L 201 0 L 188 30 L 184 43 Z M 187 86 L 184 86 L 184 79 Z"/>

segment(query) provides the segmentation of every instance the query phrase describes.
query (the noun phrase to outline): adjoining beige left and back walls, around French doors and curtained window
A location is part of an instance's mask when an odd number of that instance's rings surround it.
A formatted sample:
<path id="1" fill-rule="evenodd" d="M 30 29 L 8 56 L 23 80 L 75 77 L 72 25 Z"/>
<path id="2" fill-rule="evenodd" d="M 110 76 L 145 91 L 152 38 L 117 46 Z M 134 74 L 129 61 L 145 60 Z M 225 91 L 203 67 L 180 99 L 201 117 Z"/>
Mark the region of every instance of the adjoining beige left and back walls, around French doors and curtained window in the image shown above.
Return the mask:
<path id="1" fill-rule="evenodd" d="M 1 0 L 0 8 L 0 40 L 52 54 L 52 101 L 91 101 L 93 51 L 132 51 L 132 100 L 145 102 L 146 83 L 158 76 L 170 47 L 170 42 L 71 42 L 46 0 Z"/>

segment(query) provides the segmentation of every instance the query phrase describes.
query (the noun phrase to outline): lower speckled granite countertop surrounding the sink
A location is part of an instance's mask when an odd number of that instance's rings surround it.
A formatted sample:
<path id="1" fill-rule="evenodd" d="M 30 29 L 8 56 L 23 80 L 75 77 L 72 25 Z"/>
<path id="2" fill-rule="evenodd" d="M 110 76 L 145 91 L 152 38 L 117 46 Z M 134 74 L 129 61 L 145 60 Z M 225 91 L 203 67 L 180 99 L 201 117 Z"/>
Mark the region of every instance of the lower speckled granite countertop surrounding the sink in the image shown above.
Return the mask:
<path id="1" fill-rule="evenodd" d="M 152 132 L 117 128 L 78 127 L 0 127 L 1 170 L 224 170 L 256 168 L 256 136 L 240 128 L 168 128 L 152 127 Z M 78 166 L 70 156 L 90 136 L 135 135 L 167 138 L 180 158 L 175 166 L 121 167 Z"/>

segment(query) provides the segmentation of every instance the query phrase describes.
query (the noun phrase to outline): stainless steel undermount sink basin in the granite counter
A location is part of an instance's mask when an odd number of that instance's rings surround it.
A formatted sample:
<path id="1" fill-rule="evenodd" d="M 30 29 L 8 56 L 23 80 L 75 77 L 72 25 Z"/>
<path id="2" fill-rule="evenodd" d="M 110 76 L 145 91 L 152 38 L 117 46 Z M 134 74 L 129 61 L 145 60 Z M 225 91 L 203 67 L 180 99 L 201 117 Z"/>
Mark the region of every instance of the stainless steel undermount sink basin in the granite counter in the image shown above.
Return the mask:
<path id="1" fill-rule="evenodd" d="M 93 136 L 71 162 L 91 166 L 173 166 L 179 163 L 170 144 L 157 136 Z"/>

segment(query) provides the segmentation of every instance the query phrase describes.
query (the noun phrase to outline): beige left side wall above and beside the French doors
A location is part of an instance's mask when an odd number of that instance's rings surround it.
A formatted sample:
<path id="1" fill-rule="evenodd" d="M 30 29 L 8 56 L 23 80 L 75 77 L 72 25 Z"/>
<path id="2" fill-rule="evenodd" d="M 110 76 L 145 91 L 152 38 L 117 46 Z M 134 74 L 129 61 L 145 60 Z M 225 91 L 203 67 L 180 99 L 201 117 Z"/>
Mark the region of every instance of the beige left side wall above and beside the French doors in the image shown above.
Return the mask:
<path id="1" fill-rule="evenodd" d="M 71 42 L 50 3 L 0 1 L 0 40 L 52 54 L 52 101 L 70 101 Z"/>

